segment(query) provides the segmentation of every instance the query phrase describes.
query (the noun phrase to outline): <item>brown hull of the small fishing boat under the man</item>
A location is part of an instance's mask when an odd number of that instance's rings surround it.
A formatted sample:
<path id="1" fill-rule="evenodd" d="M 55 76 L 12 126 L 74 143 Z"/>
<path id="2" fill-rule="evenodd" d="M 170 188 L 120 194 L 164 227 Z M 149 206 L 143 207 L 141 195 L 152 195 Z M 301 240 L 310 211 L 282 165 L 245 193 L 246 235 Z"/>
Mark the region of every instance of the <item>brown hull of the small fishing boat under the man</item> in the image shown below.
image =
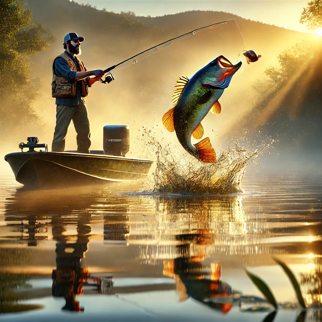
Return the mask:
<path id="1" fill-rule="evenodd" d="M 99 152 L 99 151 L 98 151 Z M 147 177 L 151 160 L 71 152 L 17 152 L 5 156 L 26 186 L 85 185 Z"/>

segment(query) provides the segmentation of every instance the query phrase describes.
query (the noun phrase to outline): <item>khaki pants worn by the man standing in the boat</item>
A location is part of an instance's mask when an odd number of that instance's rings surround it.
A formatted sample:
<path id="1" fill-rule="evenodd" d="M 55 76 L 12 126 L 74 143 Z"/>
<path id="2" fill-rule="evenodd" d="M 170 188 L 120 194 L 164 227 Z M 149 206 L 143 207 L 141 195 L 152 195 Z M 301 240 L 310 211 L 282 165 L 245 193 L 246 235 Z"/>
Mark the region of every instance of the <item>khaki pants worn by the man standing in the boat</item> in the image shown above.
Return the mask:
<path id="1" fill-rule="evenodd" d="M 73 120 L 77 133 L 77 152 L 90 153 L 90 122 L 86 106 L 57 105 L 56 111 L 56 127 L 54 139 L 52 140 L 52 151 L 64 151 L 67 130 L 71 120 Z"/>

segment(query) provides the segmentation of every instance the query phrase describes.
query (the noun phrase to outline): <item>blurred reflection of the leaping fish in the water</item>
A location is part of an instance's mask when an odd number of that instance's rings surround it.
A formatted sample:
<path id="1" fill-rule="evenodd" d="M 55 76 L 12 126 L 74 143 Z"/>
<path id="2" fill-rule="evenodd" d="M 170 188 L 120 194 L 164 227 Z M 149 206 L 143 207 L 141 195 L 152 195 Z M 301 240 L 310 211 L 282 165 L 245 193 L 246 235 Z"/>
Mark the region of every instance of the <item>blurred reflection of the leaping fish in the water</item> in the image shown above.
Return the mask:
<path id="1" fill-rule="evenodd" d="M 202 232 L 199 237 L 204 240 Z M 211 263 L 209 273 L 203 265 L 204 254 L 190 256 L 190 244 L 177 246 L 177 252 L 180 257 L 164 261 L 163 274 L 175 280 L 180 301 L 191 297 L 213 309 L 227 313 L 232 308 L 230 299 L 233 291 L 230 285 L 220 279 L 220 263 Z"/>

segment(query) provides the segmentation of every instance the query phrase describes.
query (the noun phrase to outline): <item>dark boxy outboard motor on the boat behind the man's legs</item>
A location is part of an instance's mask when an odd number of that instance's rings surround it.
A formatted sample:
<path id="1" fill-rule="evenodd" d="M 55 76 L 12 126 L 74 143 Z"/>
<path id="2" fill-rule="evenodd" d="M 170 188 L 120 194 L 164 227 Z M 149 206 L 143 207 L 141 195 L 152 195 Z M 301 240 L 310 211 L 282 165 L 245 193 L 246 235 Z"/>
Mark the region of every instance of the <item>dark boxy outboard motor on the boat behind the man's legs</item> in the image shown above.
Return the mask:
<path id="1" fill-rule="evenodd" d="M 106 125 L 103 140 L 104 154 L 125 156 L 130 149 L 130 128 L 127 125 Z"/>

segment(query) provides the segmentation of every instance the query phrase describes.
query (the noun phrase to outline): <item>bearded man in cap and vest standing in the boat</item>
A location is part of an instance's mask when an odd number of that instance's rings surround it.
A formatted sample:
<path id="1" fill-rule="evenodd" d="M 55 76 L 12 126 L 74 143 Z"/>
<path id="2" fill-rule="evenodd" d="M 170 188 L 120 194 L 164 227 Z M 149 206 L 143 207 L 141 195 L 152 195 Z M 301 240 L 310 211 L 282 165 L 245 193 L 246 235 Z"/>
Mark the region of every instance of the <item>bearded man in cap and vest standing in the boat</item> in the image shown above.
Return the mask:
<path id="1" fill-rule="evenodd" d="M 56 127 L 52 151 L 65 149 L 67 129 L 73 120 L 77 133 L 77 152 L 90 153 L 90 123 L 84 97 L 88 87 L 104 75 L 104 71 L 87 71 L 78 59 L 84 37 L 68 33 L 64 38 L 65 52 L 57 56 L 52 66 L 52 97 L 56 98 Z M 94 75 L 95 78 L 90 78 Z"/>

